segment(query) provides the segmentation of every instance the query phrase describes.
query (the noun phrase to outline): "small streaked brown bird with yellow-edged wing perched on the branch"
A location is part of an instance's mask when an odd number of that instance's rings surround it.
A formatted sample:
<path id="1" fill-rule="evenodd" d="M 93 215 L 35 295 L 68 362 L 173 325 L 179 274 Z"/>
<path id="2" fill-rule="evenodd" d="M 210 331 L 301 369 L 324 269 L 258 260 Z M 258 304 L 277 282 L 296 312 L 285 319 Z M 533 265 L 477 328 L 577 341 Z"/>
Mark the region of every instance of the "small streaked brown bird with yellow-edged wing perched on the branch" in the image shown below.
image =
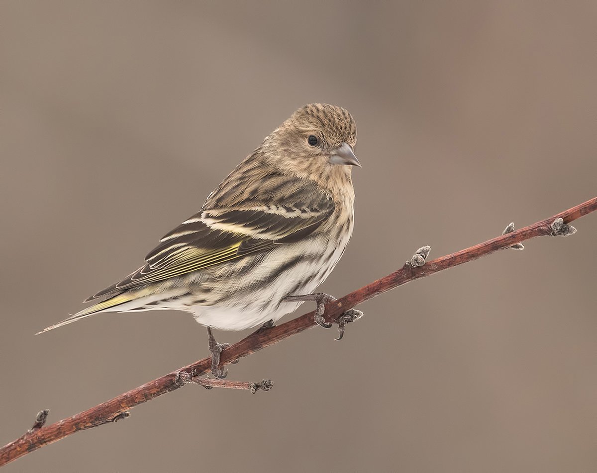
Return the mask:
<path id="1" fill-rule="evenodd" d="M 93 302 L 41 332 L 108 312 L 181 310 L 207 327 L 212 373 L 224 378 L 212 329 L 264 329 L 315 301 L 354 227 L 355 120 L 342 107 L 312 103 L 227 175 L 201 209 L 165 234 L 144 264 L 85 299 Z M 359 317 L 351 310 L 347 316 Z M 348 321 L 352 321 L 349 319 Z"/>

